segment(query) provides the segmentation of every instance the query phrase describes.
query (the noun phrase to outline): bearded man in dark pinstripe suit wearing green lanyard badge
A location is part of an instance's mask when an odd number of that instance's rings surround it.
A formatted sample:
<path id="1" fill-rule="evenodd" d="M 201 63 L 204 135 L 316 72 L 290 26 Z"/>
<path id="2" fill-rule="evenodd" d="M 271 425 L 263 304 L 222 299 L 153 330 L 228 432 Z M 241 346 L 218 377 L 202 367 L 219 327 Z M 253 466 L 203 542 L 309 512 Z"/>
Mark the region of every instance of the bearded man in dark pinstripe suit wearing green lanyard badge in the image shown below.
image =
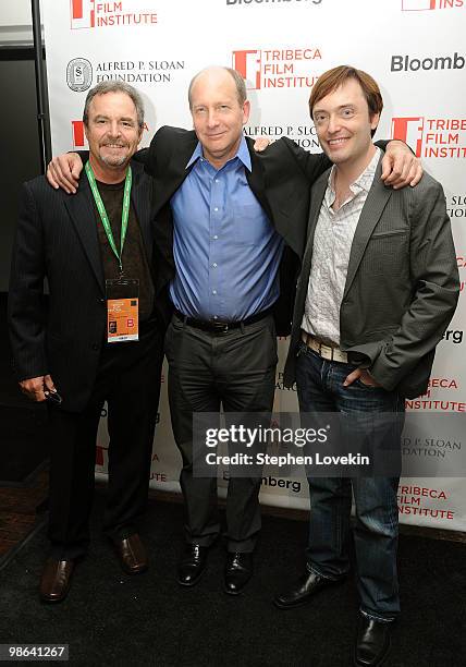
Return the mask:
<path id="1" fill-rule="evenodd" d="M 68 197 L 44 177 L 24 185 L 9 295 L 21 389 L 49 402 L 51 556 L 40 584 L 49 603 L 65 597 L 87 549 L 105 401 L 105 532 L 126 573 L 147 568 L 135 521 L 147 500 L 163 354 L 161 296 L 151 268 L 152 180 L 132 161 L 144 125 L 142 99 L 127 84 L 99 84 L 87 95 L 83 120 L 90 154 L 79 193 Z M 131 294 L 123 293 L 128 280 Z M 111 341 L 109 299 L 126 296 L 133 308 L 137 303 L 138 340 Z"/>

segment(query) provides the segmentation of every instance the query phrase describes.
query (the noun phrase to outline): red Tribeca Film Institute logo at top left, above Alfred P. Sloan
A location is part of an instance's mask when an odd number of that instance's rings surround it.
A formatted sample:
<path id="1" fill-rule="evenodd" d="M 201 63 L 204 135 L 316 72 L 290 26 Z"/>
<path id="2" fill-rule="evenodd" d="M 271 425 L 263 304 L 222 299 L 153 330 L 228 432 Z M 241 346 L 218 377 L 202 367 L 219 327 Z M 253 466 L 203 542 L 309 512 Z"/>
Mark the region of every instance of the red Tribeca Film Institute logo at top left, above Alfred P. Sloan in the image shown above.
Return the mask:
<path id="1" fill-rule="evenodd" d="M 70 0 L 71 29 L 156 24 L 157 13 L 152 9 L 134 7 L 139 1 L 143 2 L 143 0 L 124 0 L 124 2 Z M 155 0 L 144 0 L 144 3 L 147 7 L 154 4 Z"/>

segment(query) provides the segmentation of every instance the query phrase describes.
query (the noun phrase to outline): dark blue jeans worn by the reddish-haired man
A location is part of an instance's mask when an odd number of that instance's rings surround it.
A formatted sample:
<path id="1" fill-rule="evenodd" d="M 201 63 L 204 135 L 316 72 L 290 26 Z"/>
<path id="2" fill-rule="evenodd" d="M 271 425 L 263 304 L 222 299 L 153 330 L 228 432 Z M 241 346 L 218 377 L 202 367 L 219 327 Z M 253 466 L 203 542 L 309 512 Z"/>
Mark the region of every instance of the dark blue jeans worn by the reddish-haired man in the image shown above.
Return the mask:
<path id="1" fill-rule="evenodd" d="M 355 380 L 343 387 L 355 365 L 330 362 L 299 343 L 296 385 L 302 412 L 401 413 L 404 400 L 396 391 L 368 387 Z M 400 430 L 400 433 L 398 433 Z M 339 579 L 350 570 L 348 539 L 352 488 L 356 507 L 354 544 L 360 611 L 382 621 L 400 613 L 396 573 L 398 477 L 308 477 L 310 495 L 308 568 L 321 577 Z"/>

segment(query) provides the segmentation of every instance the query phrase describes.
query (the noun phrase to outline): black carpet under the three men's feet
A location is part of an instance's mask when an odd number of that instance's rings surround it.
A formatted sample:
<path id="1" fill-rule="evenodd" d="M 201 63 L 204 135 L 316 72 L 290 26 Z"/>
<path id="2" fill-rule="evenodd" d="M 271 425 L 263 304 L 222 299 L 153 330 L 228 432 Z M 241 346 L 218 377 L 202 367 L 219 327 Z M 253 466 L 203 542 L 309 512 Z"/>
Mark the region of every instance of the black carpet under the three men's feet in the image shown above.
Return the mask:
<path id="1" fill-rule="evenodd" d="M 238 597 L 222 590 L 224 554 L 213 547 L 194 589 L 180 587 L 182 507 L 150 500 L 142 534 L 150 570 L 121 573 L 99 533 L 103 493 L 96 494 L 93 542 L 76 569 L 69 597 L 41 605 L 38 580 L 47 549 L 39 531 L 0 572 L 0 642 L 69 643 L 76 665 L 156 667 L 309 666 L 351 664 L 357 597 L 352 579 L 312 604 L 282 611 L 271 604 L 304 566 L 306 523 L 263 518 L 256 574 Z M 452 667 L 465 657 L 465 546 L 401 537 L 403 617 L 387 665 Z"/>

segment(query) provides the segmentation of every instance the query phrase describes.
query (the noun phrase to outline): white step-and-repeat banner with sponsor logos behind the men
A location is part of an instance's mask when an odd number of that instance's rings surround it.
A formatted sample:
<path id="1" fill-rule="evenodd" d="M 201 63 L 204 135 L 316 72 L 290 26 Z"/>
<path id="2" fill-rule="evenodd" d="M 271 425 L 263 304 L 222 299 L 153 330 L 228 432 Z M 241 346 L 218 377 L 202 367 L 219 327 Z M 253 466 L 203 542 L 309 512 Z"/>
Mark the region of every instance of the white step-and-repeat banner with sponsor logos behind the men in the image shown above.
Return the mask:
<path id="1" fill-rule="evenodd" d="M 270 140 L 289 136 L 310 151 L 319 145 L 307 100 L 319 74 L 353 64 L 378 81 L 384 110 L 377 137 L 406 141 L 443 184 L 462 287 L 429 389 L 406 401 L 406 469 L 427 470 L 428 462 L 434 472 L 402 480 L 400 518 L 466 530 L 459 476 L 466 457 L 466 0 L 42 0 L 42 17 L 54 155 L 85 146 L 84 100 L 101 81 L 125 81 L 143 94 L 143 145 L 148 145 L 160 125 L 192 126 L 187 87 L 197 71 L 209 64 L 233 66 L 246 80 L 252 100 L 245 132 Z M 280 341 L 277 373 L 275 408 L 282 412 L 297 411 L 295 389 L 285 389 L 282 380 L 286 345 Z M 107 450 L 103 411 L 97 473 L 106 471 Z M 151 484 L 179 490 L 180 465 L 162 390 Z M 308 507 L 304 474 L 286 478 L 269 472 L 262 502 Z M 220 470 L 220 494 L 226 480 L 228 470 Z"/>

